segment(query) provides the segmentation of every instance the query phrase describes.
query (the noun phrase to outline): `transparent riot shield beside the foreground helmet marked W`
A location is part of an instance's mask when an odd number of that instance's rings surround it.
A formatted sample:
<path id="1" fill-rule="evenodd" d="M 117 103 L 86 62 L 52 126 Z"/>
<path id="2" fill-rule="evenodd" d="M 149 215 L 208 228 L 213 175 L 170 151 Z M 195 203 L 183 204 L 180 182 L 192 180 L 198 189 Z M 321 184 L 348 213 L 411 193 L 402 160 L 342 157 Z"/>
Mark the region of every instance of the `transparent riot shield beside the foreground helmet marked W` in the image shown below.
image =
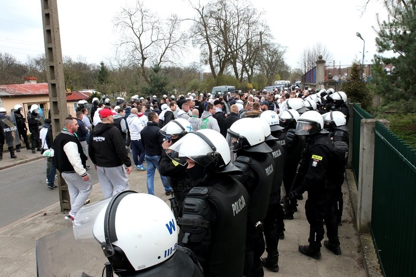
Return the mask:
<path id="1" fill-rule="evenodd" d="M 95 259 L 86 254 L 74 238 L 72 228 L 64 229 L 36 241 L 36 271 L 38 277 L 102 276 L 104 257 Z"/>

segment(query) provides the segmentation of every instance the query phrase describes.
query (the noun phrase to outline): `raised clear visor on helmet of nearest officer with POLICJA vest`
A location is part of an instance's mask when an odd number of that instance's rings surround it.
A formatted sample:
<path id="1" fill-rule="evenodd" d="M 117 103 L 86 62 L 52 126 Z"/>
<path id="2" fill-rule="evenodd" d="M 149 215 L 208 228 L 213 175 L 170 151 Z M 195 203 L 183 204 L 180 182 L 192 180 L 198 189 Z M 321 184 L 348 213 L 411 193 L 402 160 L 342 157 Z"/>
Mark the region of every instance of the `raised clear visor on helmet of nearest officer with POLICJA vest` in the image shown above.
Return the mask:
<path id="1" fill-rule="evenodd" d="M 209 145 L 201 137 L 202 134 L 187 133 L 183 138 L 173 143 L 166 154 L 173 162 L 186 165 L 186 158 L 193 160 L 203 167 L 207 167 L 211 162 L 218 158 L 215 146 Z M 198 148 L 192 147 L 198 145 Z"/>

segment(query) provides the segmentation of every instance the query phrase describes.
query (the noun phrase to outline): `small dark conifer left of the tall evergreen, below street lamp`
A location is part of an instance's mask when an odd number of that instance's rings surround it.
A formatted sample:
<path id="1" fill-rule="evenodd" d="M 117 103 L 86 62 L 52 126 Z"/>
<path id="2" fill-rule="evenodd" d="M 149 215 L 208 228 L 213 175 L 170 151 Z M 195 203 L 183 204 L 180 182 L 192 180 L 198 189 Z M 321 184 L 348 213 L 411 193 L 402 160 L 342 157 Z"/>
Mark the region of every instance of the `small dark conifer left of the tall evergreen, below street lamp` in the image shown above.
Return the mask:
<path id="1" fill-rule="evenodd" d="M 361 103 L 363 109 L 368 109 L 371 106 L 373 96 L 367 87 L 367 83 L 361 78 L 361 74 L 362 65 L 357 61 L 353 61 L 348 82 L 343 83 L 342 90 L 351 99 L 351 102 Z"/>

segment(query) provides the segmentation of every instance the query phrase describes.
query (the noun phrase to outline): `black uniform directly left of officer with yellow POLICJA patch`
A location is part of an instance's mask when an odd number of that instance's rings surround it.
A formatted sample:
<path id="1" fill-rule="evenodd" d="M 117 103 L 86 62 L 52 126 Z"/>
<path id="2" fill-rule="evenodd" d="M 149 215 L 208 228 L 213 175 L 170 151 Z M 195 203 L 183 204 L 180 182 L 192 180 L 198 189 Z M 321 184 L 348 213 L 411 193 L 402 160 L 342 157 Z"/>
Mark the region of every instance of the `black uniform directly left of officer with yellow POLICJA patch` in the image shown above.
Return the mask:
<path id="1" fill-rule="evenodd" d="M 288 194 L 296 187 L 293 186 L 297 165 L 300 161 L 302 151 L 305 147 L 305 137 L 295 135 L 296 125 L 285 129 L 287 136 L 287 155 L 285 168 L 283 169 L 283 185 L 285 186 L 286 196 L 284 198 L 285 218 L 293 219 L 293 212 L 297 211 L 297 200 L 288 198 Z"/>

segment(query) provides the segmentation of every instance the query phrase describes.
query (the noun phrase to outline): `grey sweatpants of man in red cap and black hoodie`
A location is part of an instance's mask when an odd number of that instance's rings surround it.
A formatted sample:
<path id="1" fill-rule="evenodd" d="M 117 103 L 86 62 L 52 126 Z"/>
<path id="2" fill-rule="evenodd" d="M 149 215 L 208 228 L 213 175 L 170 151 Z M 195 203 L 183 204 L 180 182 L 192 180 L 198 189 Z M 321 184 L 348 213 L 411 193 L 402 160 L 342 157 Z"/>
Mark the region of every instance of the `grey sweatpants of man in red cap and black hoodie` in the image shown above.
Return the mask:
<path id="1" fill-rule="evenodd" d="M 109 198 L 121 191 L 128 190 L 128 175 L 124 165 L 116 167 L 97 165 L 97 173 L 104 198 Z"/>

